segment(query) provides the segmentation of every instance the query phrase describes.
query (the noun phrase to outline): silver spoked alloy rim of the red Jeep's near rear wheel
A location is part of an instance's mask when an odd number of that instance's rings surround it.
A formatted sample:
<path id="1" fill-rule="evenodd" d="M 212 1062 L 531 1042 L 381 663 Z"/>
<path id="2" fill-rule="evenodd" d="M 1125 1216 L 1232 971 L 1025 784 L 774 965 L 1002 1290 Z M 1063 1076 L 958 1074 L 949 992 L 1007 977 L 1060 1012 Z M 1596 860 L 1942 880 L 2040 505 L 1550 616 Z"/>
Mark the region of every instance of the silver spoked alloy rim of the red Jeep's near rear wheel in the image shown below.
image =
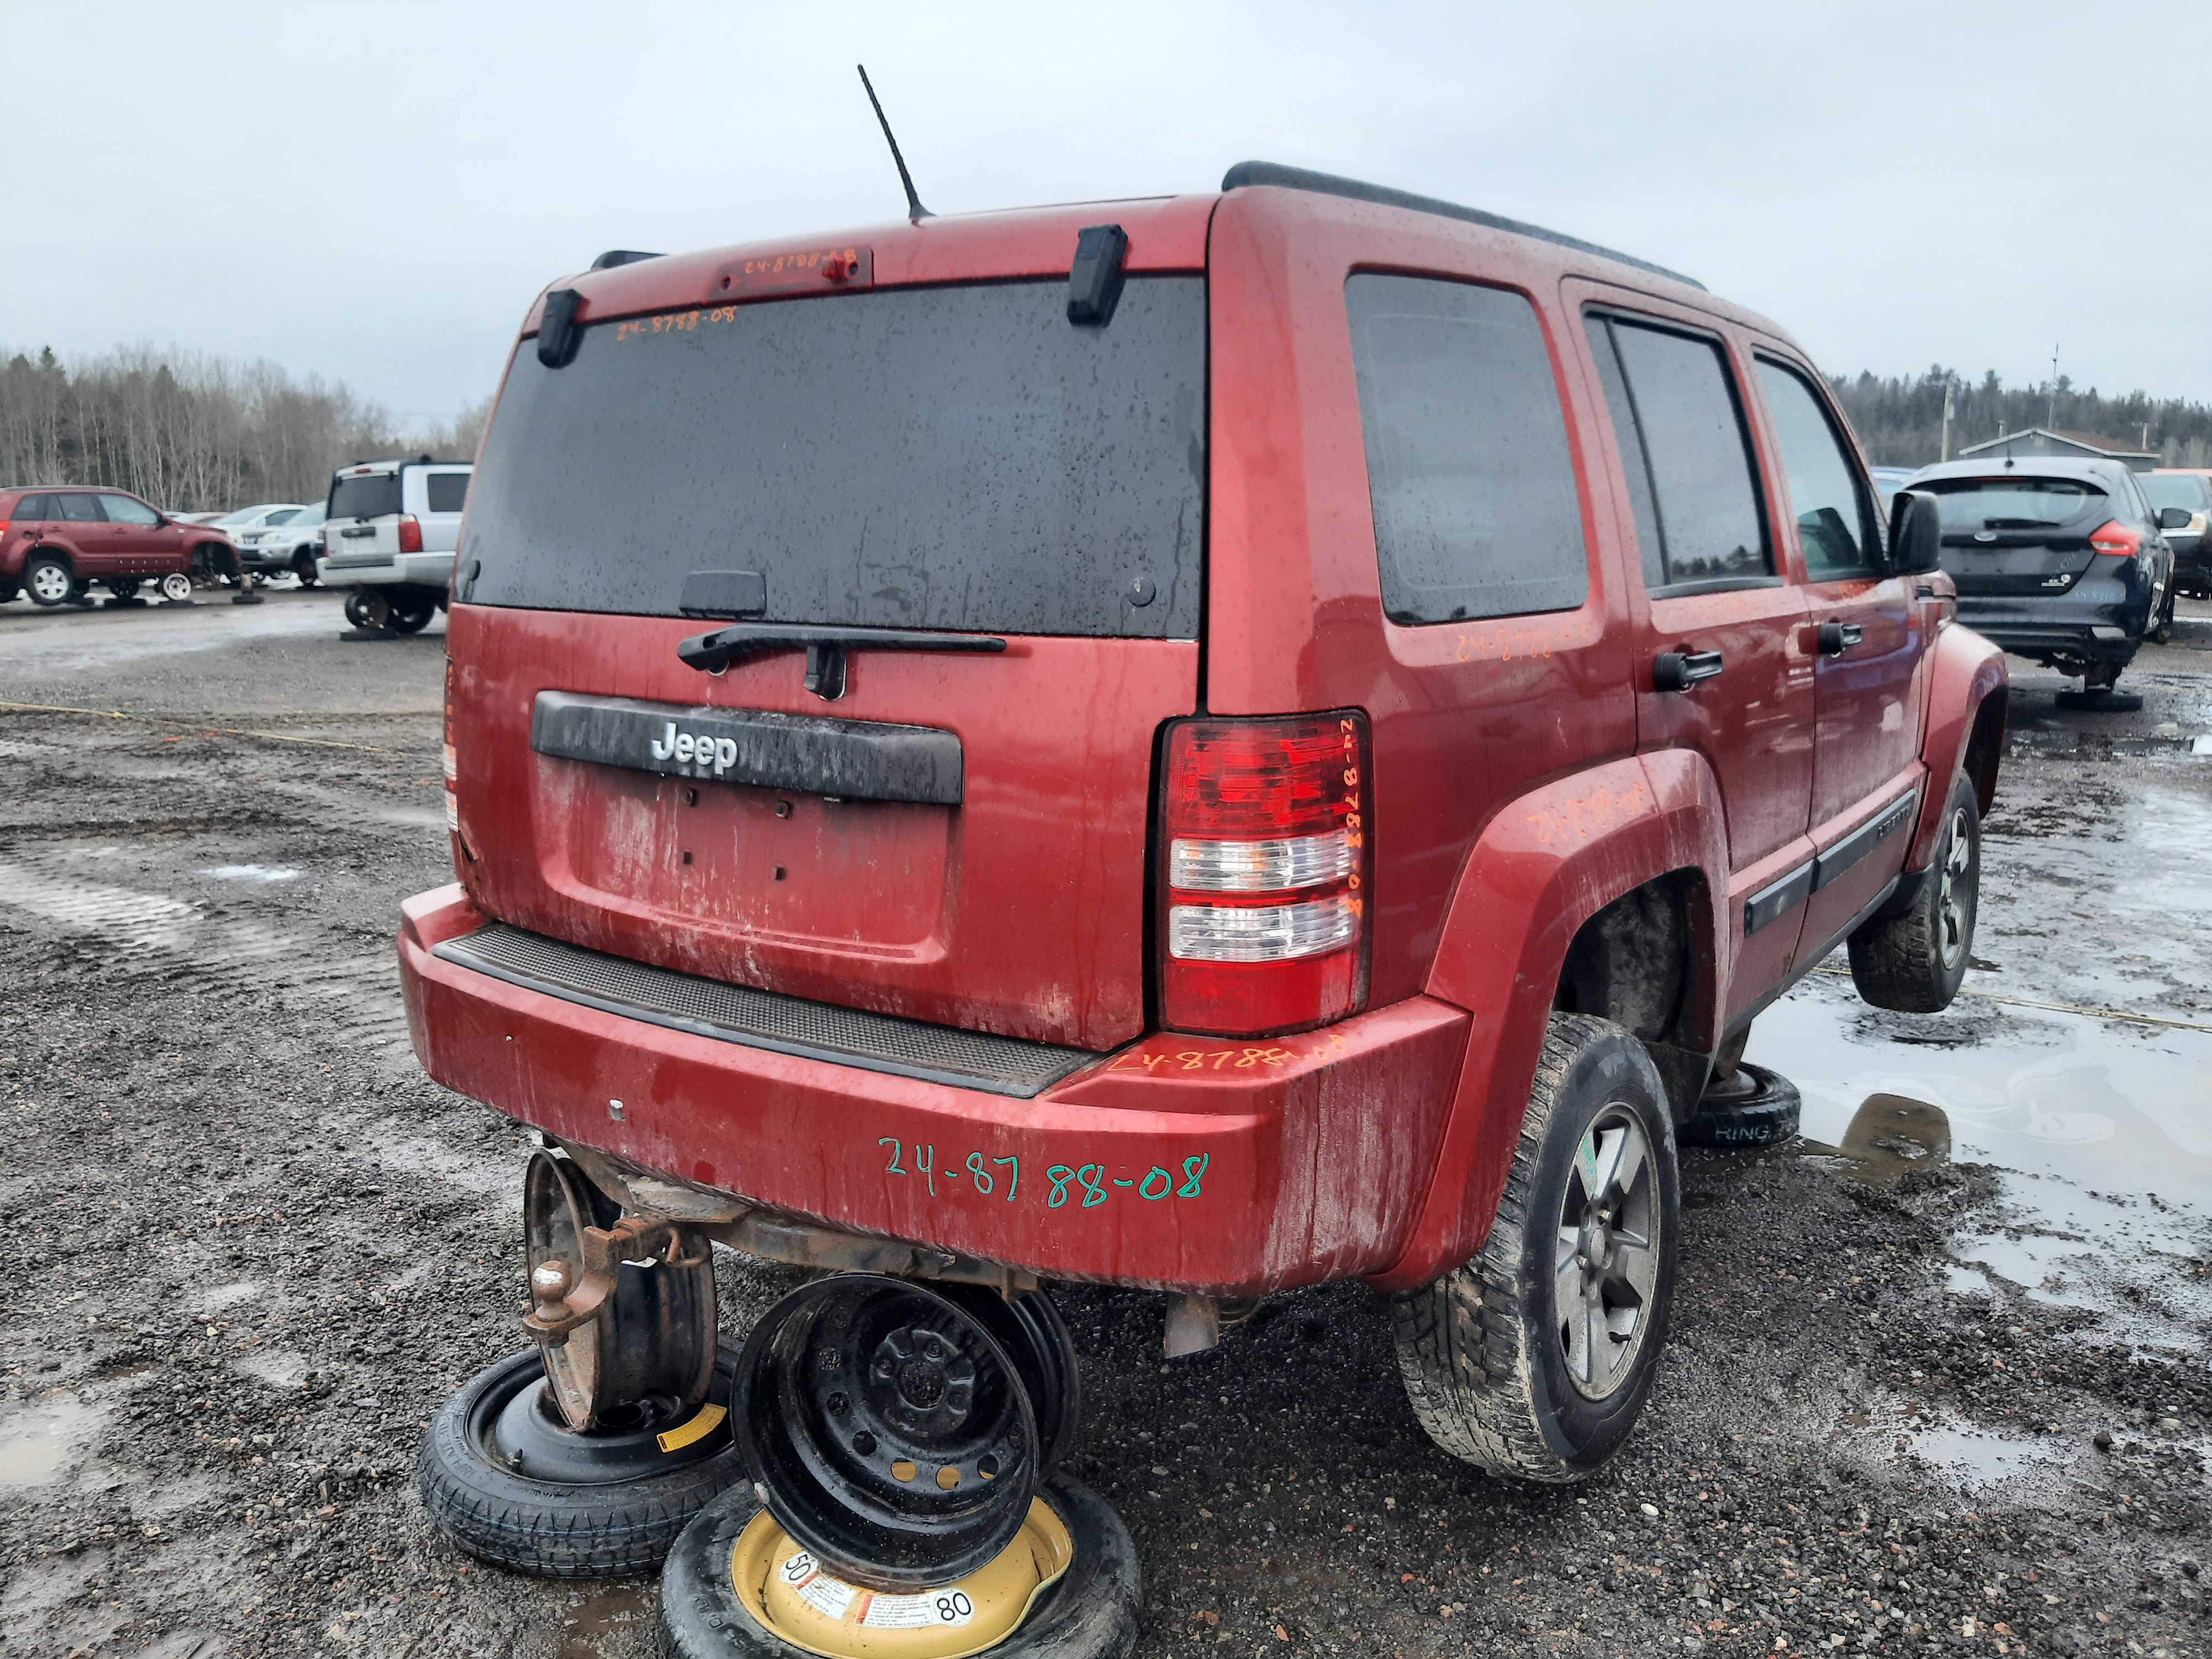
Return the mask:
<path id="1" fill-rule="evenodd" d="M 1608 1104 L 1575 1146 L 1553 1245 L 1553 1334 L 1575 1391 L 1617 1394 L 1659 1301 L 1657 1164 L 1644 1124 Z"/>

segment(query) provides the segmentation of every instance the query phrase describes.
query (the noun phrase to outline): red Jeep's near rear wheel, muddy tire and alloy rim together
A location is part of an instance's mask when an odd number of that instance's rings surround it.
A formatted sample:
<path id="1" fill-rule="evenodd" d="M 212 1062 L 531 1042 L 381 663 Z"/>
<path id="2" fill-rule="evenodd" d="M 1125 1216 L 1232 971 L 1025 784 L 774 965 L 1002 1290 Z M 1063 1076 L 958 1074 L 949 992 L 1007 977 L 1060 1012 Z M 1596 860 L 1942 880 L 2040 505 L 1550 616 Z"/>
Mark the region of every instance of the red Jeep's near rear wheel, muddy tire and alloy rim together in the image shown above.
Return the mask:
<path id="1" fill-rule="evenodd" d="M 1522 1480 L 1597 1473 L 1644 1411 L 1674 1296 L 1666 1088 L 1610 1020 L 1551 1015 L 1491 1237 L 1394 1298 L 1413 1416 Z"/>

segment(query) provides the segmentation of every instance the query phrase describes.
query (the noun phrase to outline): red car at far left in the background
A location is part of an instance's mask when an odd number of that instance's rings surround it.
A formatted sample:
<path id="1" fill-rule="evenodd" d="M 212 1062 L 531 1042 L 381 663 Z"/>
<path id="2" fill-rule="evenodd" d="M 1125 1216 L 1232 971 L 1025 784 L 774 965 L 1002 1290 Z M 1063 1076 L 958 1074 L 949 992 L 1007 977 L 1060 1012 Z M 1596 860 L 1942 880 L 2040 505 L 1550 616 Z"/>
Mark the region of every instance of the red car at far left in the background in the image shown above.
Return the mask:
<path id="1" fill-rule="evenodd" d="M 188 524 L 124 489 L 0 489 L 0 599 L 24 593 L 31 604 L 58 606 L 84 599 L 95 582 L 117 599 L 146 582 L 188 599 L 195 560 L 217 568 L 232 557 L 223 531 Z"/>

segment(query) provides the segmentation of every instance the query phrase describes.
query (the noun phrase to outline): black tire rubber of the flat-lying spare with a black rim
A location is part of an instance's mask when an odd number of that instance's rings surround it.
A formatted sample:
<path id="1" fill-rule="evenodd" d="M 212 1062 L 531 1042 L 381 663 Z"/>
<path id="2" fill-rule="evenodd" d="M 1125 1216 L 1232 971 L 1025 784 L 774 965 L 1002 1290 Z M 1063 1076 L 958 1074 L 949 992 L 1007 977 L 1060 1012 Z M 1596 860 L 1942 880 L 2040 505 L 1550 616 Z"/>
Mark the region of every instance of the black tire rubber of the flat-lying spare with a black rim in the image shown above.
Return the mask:
<path id="1" fill-rule="evenodd" d="M 723 1345 L 728 1367 L 737 1345 Z M 478 1402 L 511 1389 L 515 1371 L 544 1376 L 538 1349 L 471 1376 L 431 1418 L 416 1458 L 422 1509 L 453 1544 L 480 1562 L 540 1579 L 599 1579 L 650 1573 L 710 1498 L 743 1482 L 734 1438 L 708 1458 L 604 1486 L 518 1475 L 487 1458 L 469 1433 Z"/>

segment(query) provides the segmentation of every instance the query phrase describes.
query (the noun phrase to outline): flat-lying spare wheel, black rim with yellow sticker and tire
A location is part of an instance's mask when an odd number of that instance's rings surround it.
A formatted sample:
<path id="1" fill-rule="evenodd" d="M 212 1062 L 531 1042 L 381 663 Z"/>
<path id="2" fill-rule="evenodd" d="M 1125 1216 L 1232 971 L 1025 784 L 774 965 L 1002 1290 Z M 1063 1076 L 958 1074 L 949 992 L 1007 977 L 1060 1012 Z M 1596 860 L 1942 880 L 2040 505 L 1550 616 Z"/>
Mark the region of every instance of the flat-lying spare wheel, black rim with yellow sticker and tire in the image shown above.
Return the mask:
<path id="1" fill-rule="evenodd" d="M 575 1433 L 546 1398 L 538 1349 L 469 1378 L 422 1436 L 431 1524 L 469 1555 L 549 1579 L 650 1573 L 708 1500 L 743 1478 L 728 1402 L 737 1345 L 690 1416 Z"/>

